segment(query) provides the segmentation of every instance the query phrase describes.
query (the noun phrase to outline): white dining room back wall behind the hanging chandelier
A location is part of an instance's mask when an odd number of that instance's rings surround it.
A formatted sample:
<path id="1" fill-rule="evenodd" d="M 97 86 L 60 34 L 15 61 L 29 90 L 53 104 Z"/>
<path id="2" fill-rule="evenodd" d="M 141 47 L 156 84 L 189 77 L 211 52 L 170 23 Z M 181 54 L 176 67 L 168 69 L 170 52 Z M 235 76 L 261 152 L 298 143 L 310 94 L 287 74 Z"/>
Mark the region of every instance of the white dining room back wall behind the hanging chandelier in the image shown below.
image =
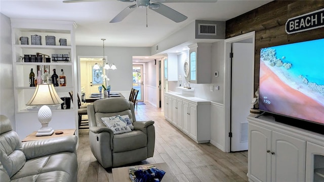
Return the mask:
<path id="1" fill-rule="evenodd" d="M 133 87 L 133 56 L 147 55 L 150 55 L 150 48 L 105 47 L 107 60 L 117 67 L 108 71 L 109 84 L 114 92 L 130 92 Z M 99 46 L 77 46 L 76 56 L 103 56 L 103 50 Z"/>

